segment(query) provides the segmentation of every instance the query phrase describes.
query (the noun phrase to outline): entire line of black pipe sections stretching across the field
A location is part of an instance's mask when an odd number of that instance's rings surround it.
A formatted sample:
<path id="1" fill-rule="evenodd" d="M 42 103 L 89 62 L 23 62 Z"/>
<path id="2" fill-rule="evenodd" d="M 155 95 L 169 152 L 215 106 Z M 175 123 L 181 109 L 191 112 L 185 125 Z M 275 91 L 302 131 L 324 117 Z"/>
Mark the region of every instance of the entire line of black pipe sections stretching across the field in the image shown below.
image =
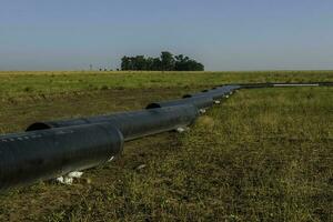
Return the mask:
<path id="1" fill-rule="evenodd" d="M 333 82 L 219 85 L 144 110 L 91 118 L 37 122 L 23 133 L 0 135 L 0 191 L 103 164 L 123 142 L 192 124 L 201 110 L 241 89 L 333 87 Z"/>

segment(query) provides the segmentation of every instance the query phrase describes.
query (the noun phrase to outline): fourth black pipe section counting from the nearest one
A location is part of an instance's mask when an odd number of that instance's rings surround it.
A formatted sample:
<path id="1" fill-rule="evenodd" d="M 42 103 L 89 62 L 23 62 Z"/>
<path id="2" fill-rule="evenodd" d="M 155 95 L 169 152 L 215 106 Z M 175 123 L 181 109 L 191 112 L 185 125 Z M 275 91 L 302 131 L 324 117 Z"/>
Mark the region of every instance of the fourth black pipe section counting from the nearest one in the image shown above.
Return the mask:
<path id="1" fill-rule="evenodd" d="M 219 100 L 225 95 L 229 95 L 233 91 L 240 89 L 240 85 L 224 85 L 219 87 L 212 90 L 203 90 L 199 93 L 192 93 L 192 94 L 184 94 L 183 98 L 195 98 L 195 97 L 210 97 L 213 100 Z"/>

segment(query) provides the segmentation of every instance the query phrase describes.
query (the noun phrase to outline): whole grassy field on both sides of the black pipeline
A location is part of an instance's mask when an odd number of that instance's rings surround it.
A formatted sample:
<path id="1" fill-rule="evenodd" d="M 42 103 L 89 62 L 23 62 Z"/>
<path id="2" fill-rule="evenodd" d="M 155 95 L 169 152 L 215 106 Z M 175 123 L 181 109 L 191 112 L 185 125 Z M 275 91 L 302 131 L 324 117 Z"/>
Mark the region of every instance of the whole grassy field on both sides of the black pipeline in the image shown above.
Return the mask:
<path id="1" fill-rule="evenodd" d="M 265 81 L 333 72 L 0 72 L 0 132 Z M 332 88 L 239 91 L 183 134 L 127 143 L 74 185 L 0 194 L 0 221 L 333 221 L 332 101 Z"/>

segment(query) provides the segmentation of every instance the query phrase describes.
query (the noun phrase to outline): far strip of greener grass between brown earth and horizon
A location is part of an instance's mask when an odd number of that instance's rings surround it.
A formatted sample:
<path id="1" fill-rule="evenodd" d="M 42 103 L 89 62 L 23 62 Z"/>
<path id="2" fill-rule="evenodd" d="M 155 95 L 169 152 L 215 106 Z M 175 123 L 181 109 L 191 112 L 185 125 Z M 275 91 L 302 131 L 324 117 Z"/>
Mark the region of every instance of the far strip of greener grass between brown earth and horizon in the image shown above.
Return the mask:
<path id="1" fill-rule="evenodd" d="M 50 94 L 99 89 L 206 87 L 230 82 L 268 81 L 333 81 L 333 72 L 0 72 L 0 94 L 19 97 L 27 93 Z"/>

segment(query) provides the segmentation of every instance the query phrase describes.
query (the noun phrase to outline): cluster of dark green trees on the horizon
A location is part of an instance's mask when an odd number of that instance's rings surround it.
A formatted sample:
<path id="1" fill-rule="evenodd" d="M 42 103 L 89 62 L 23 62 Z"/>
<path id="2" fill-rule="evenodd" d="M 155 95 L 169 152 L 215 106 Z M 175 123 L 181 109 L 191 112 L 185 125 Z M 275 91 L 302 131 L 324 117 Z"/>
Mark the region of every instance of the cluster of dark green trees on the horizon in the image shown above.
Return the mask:
<path id="1" fill-rule="evenodd" d="M 137 56 L 123 57 L 121 70 L 147 70 L 147 71 L 203 71 L 204 65 L 183 54 L 173 56 L 164 51 L 159 58 Z"/>

